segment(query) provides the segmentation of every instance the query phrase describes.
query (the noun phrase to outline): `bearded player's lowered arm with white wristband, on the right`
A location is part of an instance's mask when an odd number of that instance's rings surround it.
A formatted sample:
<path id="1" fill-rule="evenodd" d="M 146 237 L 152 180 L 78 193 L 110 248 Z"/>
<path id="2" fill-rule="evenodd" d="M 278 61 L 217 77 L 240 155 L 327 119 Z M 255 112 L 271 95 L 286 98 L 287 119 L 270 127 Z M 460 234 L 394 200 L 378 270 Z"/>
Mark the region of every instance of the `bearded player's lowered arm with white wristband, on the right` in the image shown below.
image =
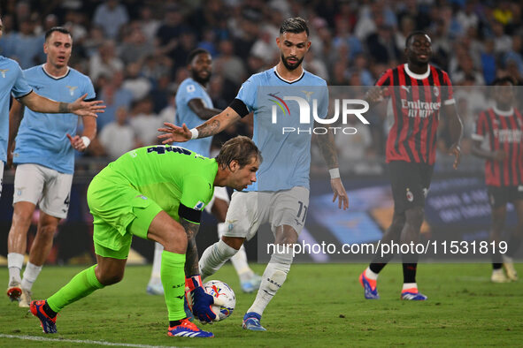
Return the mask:
<path id="1" fill-rule="evenodd" d="M 331 175 L 330 185 L 334 193 L 333 202 L 338 200 L 338 208 L 345 210 L 349 208 L 349 197 L 345 187 L 343 187 L 342 178 L 340 178 L 338 155 L 336 154 L 333 134 L 331 132 L 319 134 L 318 145 Z"/>

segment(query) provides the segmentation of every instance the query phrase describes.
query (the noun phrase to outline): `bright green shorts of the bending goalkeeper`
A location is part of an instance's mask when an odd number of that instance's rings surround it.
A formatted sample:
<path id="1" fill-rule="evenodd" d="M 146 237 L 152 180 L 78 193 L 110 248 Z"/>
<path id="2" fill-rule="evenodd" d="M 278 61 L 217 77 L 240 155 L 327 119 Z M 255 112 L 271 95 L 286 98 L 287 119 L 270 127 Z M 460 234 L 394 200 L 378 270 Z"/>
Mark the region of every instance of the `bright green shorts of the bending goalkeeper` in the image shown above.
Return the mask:
<path id="1" fill-rule="evenodd" d="M 95 252 L 127 259 L 133 235 L 147 238 L 150 223 L 162 208 L 112 170 L 105 169 L 100 174 L 93 178 L 87 193 Z"/>

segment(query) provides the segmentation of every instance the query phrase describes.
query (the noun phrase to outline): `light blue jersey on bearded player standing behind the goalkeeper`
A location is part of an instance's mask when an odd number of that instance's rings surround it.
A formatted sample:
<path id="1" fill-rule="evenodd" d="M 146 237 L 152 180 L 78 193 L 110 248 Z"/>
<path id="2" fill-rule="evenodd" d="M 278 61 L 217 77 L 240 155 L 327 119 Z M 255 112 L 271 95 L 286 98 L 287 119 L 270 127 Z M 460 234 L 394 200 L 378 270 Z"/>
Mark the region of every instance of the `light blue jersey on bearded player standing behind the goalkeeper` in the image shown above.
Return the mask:
<path id="1" fill-rule="evenodd" d="M 254 111 L 254 133 L 263 162 L 247 191 L 309 188 L 314 119 L 327 117 L 327 83 L 311 72 L 288 82 L 269 69 L 252 75 L 236 96 Z M 328 127 L 328 125 L 326 125 Z"/>

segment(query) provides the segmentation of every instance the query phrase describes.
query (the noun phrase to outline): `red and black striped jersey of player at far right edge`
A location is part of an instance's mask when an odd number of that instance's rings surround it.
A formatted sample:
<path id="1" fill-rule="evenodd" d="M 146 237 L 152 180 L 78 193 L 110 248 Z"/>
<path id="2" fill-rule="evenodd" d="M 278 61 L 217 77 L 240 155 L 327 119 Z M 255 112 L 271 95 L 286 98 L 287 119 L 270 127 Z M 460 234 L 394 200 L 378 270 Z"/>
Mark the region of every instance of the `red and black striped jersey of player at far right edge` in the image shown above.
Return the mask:
<path id="1" fill-rule="evenodd" d="M 523 185 L 523 117 L 517 109 L 481 112 L 473 140 L 484 140 L 490 151 L 503 150 L 503 161 L 485 161 L 485 182 L 493 186 Z"/>

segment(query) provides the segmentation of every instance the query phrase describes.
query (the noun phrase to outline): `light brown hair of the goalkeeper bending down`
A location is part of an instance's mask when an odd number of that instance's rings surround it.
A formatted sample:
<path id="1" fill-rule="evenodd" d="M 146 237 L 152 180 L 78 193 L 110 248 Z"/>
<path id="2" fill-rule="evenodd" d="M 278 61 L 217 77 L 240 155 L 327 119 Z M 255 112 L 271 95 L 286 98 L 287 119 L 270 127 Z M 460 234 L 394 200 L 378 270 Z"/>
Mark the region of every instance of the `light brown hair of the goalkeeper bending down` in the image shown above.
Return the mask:
<path id="1" fill-rule="evenodd" d="M 262 162 L 262 155 L 254 141 L 246 136 L 238 135 L 223 144 L 216 156 L 216 162 L 219 166 L 228 167 L 232 161 L 236 161 L 242 168 L 250 163 L 253 156 L 258 157 L 259 163 Z"/>

